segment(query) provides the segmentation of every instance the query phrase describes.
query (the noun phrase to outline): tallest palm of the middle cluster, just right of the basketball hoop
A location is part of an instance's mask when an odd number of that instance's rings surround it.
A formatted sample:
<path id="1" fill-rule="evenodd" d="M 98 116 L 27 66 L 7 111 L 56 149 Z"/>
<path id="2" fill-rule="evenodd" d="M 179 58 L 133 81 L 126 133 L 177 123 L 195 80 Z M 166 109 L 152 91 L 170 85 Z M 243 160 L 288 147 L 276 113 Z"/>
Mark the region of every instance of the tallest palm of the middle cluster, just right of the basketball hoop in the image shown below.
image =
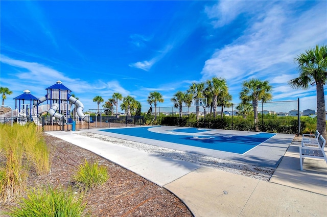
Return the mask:
<path id="1" fill-rule="evenodd" d="M 205 92 L 209 92 L 209 97 L 212 98 L 214 117 L 216 117 L 218 96 L 222 94 L 228 95 L 226 94 L 226 92 L 228 93 L 226 79 L 214 77 L 211 80 L 207 80 L 206 85 L 207 87 Z"/>

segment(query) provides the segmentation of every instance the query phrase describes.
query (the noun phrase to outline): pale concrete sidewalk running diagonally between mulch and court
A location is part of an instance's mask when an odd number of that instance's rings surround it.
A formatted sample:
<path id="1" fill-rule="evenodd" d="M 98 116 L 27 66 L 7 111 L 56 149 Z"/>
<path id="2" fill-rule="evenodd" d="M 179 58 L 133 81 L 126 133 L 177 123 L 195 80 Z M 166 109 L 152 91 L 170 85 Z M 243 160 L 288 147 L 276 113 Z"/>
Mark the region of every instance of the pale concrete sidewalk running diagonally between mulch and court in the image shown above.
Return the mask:
<path id="1" fill-rule="evenodd" d="M 80 136 L 74 132 L 46 133 L 101 155 L 165 187 L 179 197 L 195 216 L 327 216 L 327 194 L 310 192 L 310 188 L 302 190 L 260 181 Z M 284 170 L 287 170 L 287 163 L 284 165 Z M 319 177 L 319 180 L 313 178 L 316 183 L 311 188 L 319 185 L 322 193 L 326 192 L 324 182 L 327 176 L 322 174 Z"/>

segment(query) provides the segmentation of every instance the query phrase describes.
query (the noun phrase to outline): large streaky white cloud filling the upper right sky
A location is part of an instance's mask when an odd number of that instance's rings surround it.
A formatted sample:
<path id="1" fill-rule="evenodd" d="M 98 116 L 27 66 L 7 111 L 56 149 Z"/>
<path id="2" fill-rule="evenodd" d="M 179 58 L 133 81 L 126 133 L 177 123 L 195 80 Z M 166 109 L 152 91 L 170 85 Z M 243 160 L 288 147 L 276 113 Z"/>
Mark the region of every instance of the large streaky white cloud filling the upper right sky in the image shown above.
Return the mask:
<path id="1" fill-rule="evenodd" d="M 205 61 L 201 80 L 224 77 L 235 93 L 241 90 L 242 81 L 249 78 L 268 80 L 278 89 L 277 94 L 281 94 L 274 99 L 308 93 L 304 90 L 281 92 L 285 87 L 280 84 L 287 85 L 296 77 L 296 55 L 327 40 L 326 4 L 317 2 L 300 16 L 294 8 L 298 4 L 294 2 L 222 1 L 207 8 L 208 17 L 216 19 L 214 28 L 231 23 L 241 13 L 249 14 L 251 18 L 243 35 L 217 48 Z M 228 15 L 223 18 L 225 14 Z"/>

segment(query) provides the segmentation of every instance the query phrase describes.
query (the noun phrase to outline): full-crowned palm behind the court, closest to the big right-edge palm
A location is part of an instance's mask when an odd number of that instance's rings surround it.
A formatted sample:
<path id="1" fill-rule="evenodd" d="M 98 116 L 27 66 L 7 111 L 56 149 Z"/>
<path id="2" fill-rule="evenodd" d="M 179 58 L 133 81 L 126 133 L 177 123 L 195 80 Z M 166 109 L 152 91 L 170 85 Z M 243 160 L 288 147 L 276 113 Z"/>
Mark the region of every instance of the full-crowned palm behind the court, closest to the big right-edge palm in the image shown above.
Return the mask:
<path id="1" fill-rule="evenodd" d="M 261 81 L 259 79 L 250 79 L 249 81 L 244 81 L 242 86 L 243 88 L 240 92 L 240 99 L 242 103 L 252 102 L 255 131 L 259 131 L 258 104 L 260 100 L 262 102 L 272 100 L 272 86 L 269 85 L 268 81 Z"/>

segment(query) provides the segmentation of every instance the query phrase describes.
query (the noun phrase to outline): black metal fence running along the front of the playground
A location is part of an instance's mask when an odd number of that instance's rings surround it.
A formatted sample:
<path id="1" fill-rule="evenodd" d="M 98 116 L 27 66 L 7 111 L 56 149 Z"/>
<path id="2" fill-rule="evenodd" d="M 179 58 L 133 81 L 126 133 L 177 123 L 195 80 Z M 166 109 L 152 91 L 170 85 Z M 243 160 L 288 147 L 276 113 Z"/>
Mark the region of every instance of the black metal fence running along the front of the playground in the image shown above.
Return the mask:
<path id="1" fill-rule="evenodd" d="M 42 117 L 3 117 L 0 118 L 2 124 L 26 125 L 28 123 L 36 124 L 42 131 L 69 131 L 69 130 L 82 130 L 92 128 L 112 128 L 112 127 L 133 127 L 143 126 L 144 116 L 86 116 L 85 118 L 72 117 L 72 118 L 58 118 L 52 116 Z"/>

